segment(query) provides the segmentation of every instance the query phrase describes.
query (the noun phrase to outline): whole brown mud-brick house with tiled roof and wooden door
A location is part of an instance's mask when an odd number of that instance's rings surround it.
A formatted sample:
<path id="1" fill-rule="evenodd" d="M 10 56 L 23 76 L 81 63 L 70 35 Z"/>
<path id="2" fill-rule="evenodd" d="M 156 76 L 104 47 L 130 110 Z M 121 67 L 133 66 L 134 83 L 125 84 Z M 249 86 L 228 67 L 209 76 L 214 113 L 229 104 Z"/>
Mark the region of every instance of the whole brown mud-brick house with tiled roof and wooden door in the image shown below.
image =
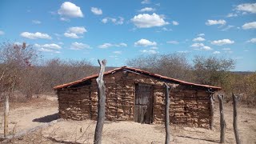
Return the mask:
<path id="1" fill-rule="evenodd" d="M 96 119 L 98 74 L 55 86 L 59 115 L 74 120 Z M 170 87 L 170 122 L 209 128 L 210 97 L 220 87 L 184 82 L 159 74 L 120 67 L 104 73 L 106 119 L 141 123 L 162 123 L 165 115 L 165 87 Z"/>

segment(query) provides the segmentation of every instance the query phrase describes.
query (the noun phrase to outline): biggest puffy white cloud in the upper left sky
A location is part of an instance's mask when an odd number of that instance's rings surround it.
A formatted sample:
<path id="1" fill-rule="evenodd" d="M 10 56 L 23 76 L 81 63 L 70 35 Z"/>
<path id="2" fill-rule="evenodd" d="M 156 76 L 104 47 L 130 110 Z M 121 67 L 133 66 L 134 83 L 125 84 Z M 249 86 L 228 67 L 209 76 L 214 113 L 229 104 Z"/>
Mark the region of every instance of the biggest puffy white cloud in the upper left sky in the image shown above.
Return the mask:
<path id="1" fill-rule="evenodd" d="M 83 14 L 79 6 L 76 6 L 71 2 L 62 3 L 61 8 L 58 10 L 58 14 L 67 18 L 82 18 Z"/>

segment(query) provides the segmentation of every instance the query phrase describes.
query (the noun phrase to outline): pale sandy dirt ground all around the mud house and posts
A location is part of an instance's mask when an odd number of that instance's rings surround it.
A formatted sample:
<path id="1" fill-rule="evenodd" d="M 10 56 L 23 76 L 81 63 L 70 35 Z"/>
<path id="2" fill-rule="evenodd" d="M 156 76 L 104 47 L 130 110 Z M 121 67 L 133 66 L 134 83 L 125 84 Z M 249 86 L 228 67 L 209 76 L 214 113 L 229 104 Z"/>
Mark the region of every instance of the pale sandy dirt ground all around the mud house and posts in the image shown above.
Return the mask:
<path id="1" fill-rule="evenodd" d="M 225 104 L 226 143 L 235 143 L 233 132 L 233 109 L 231 103 Z M 10 110 L 10 130 L 16 123 L 16 132 L 40 126 L 57 118 L 56 100 L 38 100 L 30 105 L 18 106 Z M 2 122 L 2 121 L 1 121 Z M 52 126 L 39 129 L 22 138 L 14 138 L 12 143 L 93 143 L 96 122 L 91 120 L 63 120 Z M 256 143 L 256 109 L 238 107 L 238 129 L 242 143 Z M 218 103 L 214 110 L 214 130 L 171 126 L 171 143 L 218 143 L 219 111 Z M 3 133 L 2 127 L 0 134 Z M 147 125 L 136 122 L 108 122 L 103 129 L 102 143 L 164 143 L 163 125 Z"/>

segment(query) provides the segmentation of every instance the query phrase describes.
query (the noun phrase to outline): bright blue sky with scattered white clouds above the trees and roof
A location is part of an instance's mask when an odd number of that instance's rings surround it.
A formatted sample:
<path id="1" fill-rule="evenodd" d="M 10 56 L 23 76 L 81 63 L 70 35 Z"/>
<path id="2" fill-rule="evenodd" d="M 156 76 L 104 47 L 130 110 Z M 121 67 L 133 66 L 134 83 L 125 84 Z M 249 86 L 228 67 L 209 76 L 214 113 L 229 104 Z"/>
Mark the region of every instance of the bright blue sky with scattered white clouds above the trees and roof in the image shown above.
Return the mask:
<path id="1" fill-rule="evenodd" d="M 0 42 L 26 42 L 43 58 L 125 66 L 150 54 L 233 58 L 256 70 L 256 2 L 238 0 L 1 0 Z"/>

